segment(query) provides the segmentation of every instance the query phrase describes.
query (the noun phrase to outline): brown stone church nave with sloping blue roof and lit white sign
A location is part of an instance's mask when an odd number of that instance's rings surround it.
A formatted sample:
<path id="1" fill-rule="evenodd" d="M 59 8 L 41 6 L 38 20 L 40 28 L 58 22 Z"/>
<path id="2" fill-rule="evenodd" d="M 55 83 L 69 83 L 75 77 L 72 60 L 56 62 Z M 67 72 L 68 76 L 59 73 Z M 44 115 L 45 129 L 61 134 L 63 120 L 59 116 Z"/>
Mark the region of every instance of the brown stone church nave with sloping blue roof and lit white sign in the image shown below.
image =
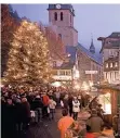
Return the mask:
<path id="1" fill-rule="evenodd" d="M 103 79 L 102 60 L 90 52 L 80 43 L 77 50 L 78 67 L 80 73 L 80 87 L 83 90 L 89 90 L 94 84 Z"/>

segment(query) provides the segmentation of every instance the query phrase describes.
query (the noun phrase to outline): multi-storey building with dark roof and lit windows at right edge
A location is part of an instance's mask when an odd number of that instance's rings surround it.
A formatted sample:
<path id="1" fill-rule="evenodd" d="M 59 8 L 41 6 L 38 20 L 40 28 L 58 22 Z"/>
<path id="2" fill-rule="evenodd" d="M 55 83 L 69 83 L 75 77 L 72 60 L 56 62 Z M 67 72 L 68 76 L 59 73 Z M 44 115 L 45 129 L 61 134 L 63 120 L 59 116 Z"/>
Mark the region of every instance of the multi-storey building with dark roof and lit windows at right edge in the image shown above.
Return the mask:
<path id="1" fill-rule="evenodd" d="M 99 37 L 102 41 L 104 79 L 109 84 L 120 84 L 120 33 Z"/>

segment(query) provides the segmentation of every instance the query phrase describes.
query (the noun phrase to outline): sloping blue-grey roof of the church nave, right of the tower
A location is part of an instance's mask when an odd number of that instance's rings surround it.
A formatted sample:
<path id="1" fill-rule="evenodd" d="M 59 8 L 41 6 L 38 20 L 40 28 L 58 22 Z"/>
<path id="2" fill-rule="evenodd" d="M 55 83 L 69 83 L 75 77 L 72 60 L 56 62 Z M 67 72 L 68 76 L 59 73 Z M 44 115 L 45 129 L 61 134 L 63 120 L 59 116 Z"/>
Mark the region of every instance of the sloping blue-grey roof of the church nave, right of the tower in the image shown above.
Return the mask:
<path id="1" fill-rule="evenodd" d="M 84 52 L 93 61 L 102 65 L 102 55 L 92 54 L 88 49 L 85 49 L 81 43 L 78 43 L 78 49 Z"/>

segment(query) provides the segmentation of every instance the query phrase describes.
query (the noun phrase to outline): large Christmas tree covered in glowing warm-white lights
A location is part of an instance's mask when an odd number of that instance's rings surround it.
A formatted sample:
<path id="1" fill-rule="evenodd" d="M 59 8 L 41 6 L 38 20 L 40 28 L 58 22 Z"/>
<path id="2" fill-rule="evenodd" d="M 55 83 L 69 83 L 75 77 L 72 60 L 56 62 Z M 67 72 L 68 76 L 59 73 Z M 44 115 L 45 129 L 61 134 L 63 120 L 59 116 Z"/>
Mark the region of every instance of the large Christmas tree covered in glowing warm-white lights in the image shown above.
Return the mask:
<path id="1" fill-rule="evenodd" d="M 50 76 L 48 41 L 37 24 L 23 21 L 11 43 L 4 80 L 37 85 Z"/>

